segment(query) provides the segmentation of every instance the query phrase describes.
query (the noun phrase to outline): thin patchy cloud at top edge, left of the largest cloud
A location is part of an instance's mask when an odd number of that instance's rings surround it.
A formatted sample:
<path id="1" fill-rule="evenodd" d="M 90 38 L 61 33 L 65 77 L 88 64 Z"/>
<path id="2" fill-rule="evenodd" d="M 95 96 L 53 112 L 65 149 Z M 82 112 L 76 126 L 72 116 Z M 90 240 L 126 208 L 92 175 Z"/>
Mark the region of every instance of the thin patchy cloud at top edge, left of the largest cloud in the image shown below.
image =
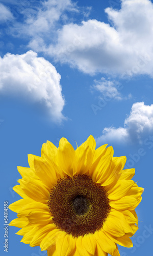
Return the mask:
<path id="1" fill-rule="evenodd" d="M 67 19 L 66 11 L 78 12 L 77 4 L 72 3 L 71 0 L 48 0 L 40 2 L 36 7 L 30 5 L 28 8 L 22 9 L 24 22 L 16 22 L 10 29 L 10 33 L 14 36 L 29 36 L 29 46 L 33 48 L 34 42 L 37 40 L 37 46 L 40 46 L 39 50 L 44 44 L 44 38 L 49 38 L 49 41 L 53 40 L 54 33 L 57 32 L 57 22 L 60 20 L 62 23 Z"/>

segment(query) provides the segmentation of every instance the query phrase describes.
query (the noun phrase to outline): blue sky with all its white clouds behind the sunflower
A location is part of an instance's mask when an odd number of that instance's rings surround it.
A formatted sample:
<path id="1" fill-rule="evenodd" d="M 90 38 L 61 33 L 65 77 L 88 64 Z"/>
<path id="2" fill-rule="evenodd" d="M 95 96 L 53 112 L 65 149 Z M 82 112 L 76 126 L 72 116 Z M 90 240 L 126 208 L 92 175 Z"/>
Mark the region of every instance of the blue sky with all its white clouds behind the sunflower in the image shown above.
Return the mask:
<path id="1" fill-rule="evenodd" d="M 136 168 L 134 180 L 145 188 L 134 247 L 119 247 L 120 255 L 151 255 L 152 24 L 149 0 L 1 0 L 2 225 L 4 201 L 20 199 L 12 190 L 16 166 L 28 167 L 27 155 L 40 156 L 46 140 L 58 146 L 66 137 L 76 148 L 92 134 L 97 146 L 126 155 L 126 168 Z M 45 255 L 20 243 L 17 230 L 9 227 L 7 255 Z"/>

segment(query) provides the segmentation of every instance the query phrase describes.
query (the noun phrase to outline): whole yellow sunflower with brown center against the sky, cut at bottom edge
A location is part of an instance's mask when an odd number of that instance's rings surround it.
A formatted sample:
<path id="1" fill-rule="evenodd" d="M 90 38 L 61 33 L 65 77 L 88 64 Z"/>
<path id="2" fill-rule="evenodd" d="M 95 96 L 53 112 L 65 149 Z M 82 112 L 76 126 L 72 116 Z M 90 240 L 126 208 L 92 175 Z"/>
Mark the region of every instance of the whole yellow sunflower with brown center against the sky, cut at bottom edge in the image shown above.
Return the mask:
<path id="1" fill-rule="evenodd" d="M 28 155 L 30 168 L 18 167 L 13 189 L 23 199 L 9 208 L 21 242 L 48 256 L 119 256 L 117 244 L 133 246 L 143 188 L 131 180 L 135 169 L 123 170 L 125 156 L 95 146 L 91 135 L 75 151 L 65 138 L 58 148 L 47 141 L 41 157 Z"/>

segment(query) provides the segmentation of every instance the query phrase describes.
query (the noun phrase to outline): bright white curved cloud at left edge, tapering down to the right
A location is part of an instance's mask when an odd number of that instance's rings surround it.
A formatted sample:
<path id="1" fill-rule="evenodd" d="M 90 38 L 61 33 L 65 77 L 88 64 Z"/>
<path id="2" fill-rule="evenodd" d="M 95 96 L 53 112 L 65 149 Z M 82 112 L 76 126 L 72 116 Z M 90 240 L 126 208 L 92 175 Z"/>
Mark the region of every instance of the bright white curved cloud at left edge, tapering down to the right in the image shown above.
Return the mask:
<path id="1" fill-rule="evenodd" d="M 52 119 L 59 122 L 64 118 L 60 79 L 56 68 L 36 52 L 0 57 L 0 93 L 44 103 Z"/>

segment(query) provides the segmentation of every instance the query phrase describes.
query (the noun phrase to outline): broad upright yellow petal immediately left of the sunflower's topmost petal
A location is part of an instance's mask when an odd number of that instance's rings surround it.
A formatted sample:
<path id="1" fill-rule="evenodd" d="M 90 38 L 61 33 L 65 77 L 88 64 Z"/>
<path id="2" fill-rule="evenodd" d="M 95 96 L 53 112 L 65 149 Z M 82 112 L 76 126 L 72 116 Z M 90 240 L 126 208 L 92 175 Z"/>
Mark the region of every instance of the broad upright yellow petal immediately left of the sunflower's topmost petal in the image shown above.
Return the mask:
<path id="1" fill-rule="evenodd" d="M 59 142 L 57 161 L 65 174 L 72 177 L 74 175 L 75 151 L 67 139 L 62 138 Z"/>

